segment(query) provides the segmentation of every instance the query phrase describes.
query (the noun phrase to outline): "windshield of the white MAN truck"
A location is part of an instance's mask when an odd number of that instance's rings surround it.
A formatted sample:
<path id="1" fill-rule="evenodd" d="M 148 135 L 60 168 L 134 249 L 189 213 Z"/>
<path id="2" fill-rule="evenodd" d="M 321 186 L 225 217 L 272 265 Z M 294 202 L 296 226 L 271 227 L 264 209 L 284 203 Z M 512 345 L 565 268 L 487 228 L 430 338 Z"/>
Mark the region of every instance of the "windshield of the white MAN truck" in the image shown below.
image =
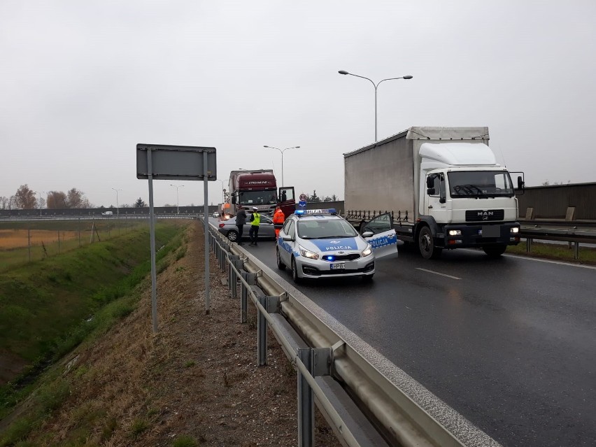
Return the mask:
<path id="1" fill-rule="evenodd" d="M 515 191 L 507 171 L 448 172 L 451 197 L 513 197 Z"/>

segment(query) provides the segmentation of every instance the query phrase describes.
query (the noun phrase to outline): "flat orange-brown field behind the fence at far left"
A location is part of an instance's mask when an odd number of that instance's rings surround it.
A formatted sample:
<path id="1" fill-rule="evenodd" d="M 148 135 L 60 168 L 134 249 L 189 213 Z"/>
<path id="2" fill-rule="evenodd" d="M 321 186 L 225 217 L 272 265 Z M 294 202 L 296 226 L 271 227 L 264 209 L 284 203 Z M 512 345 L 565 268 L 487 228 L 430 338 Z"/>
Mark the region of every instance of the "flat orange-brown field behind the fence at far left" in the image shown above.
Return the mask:
<path id="1" fill-rule="evenodd" d="M 0 222 L 0 271 L 106 241 L 140 227 L 148 227 L 148 222 L 136 219 Z"/>

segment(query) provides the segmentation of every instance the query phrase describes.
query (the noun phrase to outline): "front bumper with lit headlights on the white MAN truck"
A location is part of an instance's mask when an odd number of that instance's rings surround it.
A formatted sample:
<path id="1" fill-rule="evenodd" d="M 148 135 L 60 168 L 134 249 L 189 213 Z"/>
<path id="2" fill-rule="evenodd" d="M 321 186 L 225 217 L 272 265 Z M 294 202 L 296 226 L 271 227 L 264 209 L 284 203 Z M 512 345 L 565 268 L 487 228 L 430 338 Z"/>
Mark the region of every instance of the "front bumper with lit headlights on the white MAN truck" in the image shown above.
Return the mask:
<path id="1" fill-rule="evenodd" d="M 520 225 L 518 222 L 490 225 L 445 225 L 442 236 L 437 234 L 437 239 L 437 246 L 443 248 L 516 246 L 520 242 Z"/>

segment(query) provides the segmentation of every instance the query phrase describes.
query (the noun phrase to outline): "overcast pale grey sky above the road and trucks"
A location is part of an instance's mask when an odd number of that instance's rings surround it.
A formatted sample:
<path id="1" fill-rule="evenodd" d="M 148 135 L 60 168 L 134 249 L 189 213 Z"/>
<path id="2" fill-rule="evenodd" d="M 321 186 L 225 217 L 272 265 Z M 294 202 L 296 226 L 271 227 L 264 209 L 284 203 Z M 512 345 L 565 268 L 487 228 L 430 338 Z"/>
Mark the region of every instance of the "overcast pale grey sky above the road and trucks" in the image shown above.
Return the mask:
<path id="1" fill-rule="evenodd" d="M 136 143 L 215 146 L 218 178 L 283 156 L 343 199 L 343 153 L 411 126 L 488 126 L 527 185 L 596 181 L 596 2 L 0 1 L 0 196 L 148 201 Z M 589 132 L 588 132 L 589 131 Z M 170 180 L 155 205 L 176 204 Z M 177 182 L 180 206 L 202 182 Z M 209 183 L 221 201 L 222 183 Z"/>

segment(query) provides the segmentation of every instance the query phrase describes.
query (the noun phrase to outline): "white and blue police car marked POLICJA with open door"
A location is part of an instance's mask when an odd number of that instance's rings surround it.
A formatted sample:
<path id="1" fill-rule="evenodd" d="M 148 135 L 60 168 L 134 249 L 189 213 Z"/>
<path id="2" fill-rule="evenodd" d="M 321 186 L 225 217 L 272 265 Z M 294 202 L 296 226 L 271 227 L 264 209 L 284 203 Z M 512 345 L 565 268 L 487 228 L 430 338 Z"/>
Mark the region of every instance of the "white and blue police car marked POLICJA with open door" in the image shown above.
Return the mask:
<path id="1" fill-rule="evenodd" d="M 299 210 L 288 216 L 276 245 L 277 267 L 292 279 L 362 276 L 371 280 L 378 257 L 397 253 L 394 229 L 362 236 L 334 209 Z"/>

